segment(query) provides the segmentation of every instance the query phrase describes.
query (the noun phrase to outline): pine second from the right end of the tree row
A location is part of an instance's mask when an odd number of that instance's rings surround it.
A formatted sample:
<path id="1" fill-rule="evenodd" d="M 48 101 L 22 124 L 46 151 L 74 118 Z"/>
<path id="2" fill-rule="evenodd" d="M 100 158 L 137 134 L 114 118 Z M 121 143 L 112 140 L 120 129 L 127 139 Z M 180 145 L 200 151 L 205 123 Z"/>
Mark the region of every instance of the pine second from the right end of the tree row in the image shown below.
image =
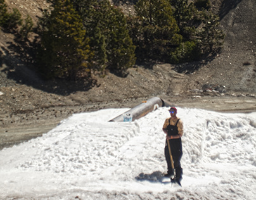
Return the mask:
<path id="1" fill-rule="evenodd" d="M 170 53 L 179 46 L 182 36 L 168 1 L 139 0 L 136 4 L 138 22 L 132 30 L 141 59 L 169 60 Z"/>

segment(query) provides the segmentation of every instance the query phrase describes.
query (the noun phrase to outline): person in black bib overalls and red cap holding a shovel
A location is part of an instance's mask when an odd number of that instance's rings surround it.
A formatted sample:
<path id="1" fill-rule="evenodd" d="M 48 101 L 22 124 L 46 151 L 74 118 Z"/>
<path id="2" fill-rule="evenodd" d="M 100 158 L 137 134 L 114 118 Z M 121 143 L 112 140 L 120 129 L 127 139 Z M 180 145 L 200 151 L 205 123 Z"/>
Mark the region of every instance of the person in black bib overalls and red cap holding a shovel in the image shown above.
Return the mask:
<path id="1" fill-rule="evenodd" d="M 180 184 L 182 178 L 182 168 L 181 168 L 181 157 L 182 157 L 182 143 L 181 137 L 183 135 L 183 122 L 180 118 L 176 116 L 177 109 L 172 107 L 169 109 L 170 118 L 165 120 L 163 124 L 163 132 L 166 134 L 166 142 L 165 142 L 165 159 L 167 161 L 168 171 L 165 174 L 165 177 L 172 177 L 174 175 L 175 169 L 175 177 L 174 182 Z M 168 142 L 170 144 L 170 151 L 172 153 L 172 160 L 174 162 L 174 169 L 172 169 L 172 163 L 169 154 Z"/>

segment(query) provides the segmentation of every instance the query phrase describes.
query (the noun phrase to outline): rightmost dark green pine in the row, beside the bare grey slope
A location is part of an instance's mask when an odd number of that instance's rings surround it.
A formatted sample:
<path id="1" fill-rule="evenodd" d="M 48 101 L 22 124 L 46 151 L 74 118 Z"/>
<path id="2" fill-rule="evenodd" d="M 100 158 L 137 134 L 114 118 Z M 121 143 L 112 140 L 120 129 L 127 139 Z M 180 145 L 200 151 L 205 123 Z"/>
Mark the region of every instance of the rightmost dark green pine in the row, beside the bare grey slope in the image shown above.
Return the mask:
<path id="1" fill-rule="evenodd" d="M 200 7 L 188 0 L 169 0 L 174 8 L 174 16 L 179 26 L 183 41 L 174 53 L 173 63 L 183 63 L 200 59 L 218 49 L 224 34 L 217 29 L 219 18 L 210 9 Z M 210 8 L 210 1 L 196 1 L 197 6 Z"/>

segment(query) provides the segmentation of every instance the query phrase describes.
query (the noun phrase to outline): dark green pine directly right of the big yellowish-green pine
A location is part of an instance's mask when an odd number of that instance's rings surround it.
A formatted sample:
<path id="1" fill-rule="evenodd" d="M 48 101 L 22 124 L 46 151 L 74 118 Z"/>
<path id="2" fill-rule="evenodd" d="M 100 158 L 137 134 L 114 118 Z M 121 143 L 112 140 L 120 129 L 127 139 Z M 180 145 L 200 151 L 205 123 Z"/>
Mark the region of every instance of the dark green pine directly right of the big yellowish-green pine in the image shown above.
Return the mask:
<path id="1" fill-rule="evenodd" d="M 134 65 L 135 46 L 127 30 L 124 14 L 110 5 L 108 0 L 74 0 L 82 16 L 90 46 L 94 51 L 94 69 L 125 73 Z"/>

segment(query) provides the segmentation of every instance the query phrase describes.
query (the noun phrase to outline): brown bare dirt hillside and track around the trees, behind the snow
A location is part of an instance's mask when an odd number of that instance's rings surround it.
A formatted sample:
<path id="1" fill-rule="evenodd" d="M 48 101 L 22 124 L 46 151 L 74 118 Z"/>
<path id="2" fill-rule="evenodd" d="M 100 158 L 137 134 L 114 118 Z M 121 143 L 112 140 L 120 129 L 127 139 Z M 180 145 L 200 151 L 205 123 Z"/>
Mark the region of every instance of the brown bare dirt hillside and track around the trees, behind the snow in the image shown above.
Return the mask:
<path id="1" fill-rule="evenodd" d="M 90 80 L 41 80 L 30 70 L 33 59 L 17 50 L 22 44 L 0 30 L 0 149 L 38 137 L 74 113 L 132 108 L 154 96 L 186 108 L 256 111 L 256 2 L 212 2 L 226 33 L 222 52 L 214 59 L 180 66 L 134 66 L 125 78 L 94 75 L 91 87 Z M 42 0 L 6 3 L 34 20 L 47 7 Z M 188 66 L 198 70 L 177 73 L 177 68 Z"/>

